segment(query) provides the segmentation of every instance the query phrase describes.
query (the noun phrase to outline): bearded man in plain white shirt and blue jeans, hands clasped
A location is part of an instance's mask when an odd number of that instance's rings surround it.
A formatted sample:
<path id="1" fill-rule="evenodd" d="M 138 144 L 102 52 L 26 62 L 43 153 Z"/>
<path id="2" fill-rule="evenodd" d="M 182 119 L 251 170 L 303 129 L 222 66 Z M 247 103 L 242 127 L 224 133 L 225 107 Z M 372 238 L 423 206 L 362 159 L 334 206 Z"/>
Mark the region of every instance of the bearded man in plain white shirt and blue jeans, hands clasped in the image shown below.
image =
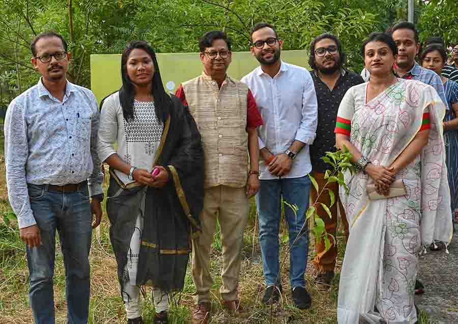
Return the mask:
<path id="1" fill-rule="evenodd" d="M 317 131 L 317 96 L 310 73 L 282 62 L 283 41 L 275 28 L 258 23 L 251 33 L 251 53 L 261 63 L 242 78 L 251 89 L 264 120 L 259 128 L 261 189 L 256 196 L 259 241 L 267 285 L 263 302 L 276 302 L 281 293 L 278 231 L 281 198 L 290 238 L 290 282 L 296 307 L 310 307 L 304 274 L 308 257 L 308 209 L 311 171 L 309 145 Z"/>

